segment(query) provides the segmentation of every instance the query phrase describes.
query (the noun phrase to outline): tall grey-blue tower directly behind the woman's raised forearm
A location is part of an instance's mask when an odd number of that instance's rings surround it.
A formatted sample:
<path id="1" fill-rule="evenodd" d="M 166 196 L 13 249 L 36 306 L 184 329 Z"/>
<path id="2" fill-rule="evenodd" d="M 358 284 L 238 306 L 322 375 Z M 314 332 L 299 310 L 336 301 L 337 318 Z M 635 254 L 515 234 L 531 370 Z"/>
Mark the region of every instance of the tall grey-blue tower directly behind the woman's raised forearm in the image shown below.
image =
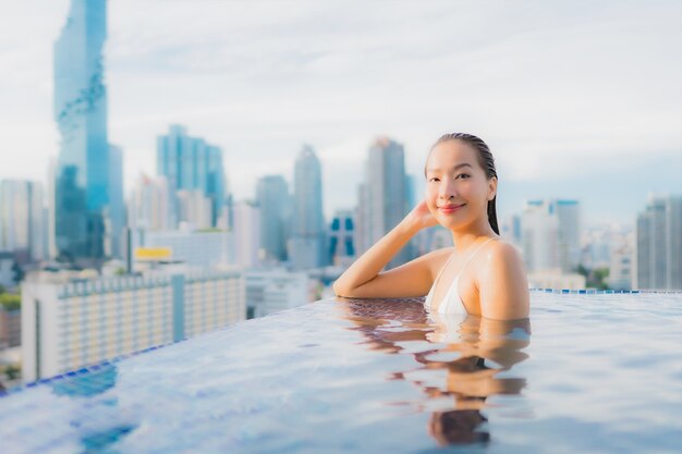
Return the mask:
<path id="1" fill-rule="evenodd" d="M 365 162 L 364 183 L 358 189 L 356 214 L 357 251 L 364 253 L 404 218 L 410 210 L 403 146 L 387 137 L 378 138 L 370 147 Z M 394 268 L 413 256 L 406 245 L 388 263 Z"/>

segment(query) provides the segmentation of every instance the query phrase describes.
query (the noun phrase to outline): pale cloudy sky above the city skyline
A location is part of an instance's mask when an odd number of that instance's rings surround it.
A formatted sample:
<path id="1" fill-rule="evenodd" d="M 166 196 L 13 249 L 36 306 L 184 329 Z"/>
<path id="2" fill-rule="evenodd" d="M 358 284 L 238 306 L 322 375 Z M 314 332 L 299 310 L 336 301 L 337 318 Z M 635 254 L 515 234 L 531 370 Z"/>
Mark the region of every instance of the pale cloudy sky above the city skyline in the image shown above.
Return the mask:
<path id="1" fill-rule="evenodd" d="M 45 182 L 58 154 L 52 45 L 69 4 L 3 7 L 0 179 Z M 586 222 L 632 223 L 649 193 L 682 194 L 678 0 L 109 0 L 108 15 L 127 191 L 182 124 L 222 147 L 238 200 L 266 174 L 291 183 L 310 144 L 327 216 L 355 206 L 379 136 L 403 144 L 417 191 L 440 135 L 482 137 L 502 218 L 561 197 Z"/>

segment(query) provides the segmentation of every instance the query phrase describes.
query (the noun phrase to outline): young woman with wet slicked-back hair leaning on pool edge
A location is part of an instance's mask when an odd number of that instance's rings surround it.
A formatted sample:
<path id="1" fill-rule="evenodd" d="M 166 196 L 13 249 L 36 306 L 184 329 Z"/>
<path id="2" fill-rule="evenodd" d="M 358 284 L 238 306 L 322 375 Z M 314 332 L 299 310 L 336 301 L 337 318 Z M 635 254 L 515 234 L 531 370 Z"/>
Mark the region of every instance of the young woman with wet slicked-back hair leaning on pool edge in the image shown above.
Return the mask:
<path id="1" fill-rule="evenodd" d="M 425 175 L 424 200 L 337 280 L 334 293 L 352 298 L 427 295 L 424 305 L 436 312 L 527 318 L 523 261 L 499 236 L 497 172 L 488 146 L 471 134 L 446 134 L 431 147 Z M 419 230 L 436 224 L 452 232 L 454 247 L 381 272 Z"/>

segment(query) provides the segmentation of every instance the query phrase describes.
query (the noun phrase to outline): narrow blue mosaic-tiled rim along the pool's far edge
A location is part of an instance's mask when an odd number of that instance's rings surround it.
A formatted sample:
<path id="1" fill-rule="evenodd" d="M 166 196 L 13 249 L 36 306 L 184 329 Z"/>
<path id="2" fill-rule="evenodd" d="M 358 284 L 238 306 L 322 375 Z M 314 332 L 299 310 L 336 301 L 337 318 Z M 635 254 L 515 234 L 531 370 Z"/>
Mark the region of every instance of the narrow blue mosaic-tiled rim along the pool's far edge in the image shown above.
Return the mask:
<path id="1" fill-rule="evenodd" d="M 596 289 L 579 289 L 579 290 L 573 290 L 573 289 L 529 289 L 531 292 L 536 292 L 536 293 L 552 293 L 552 294 L 574 294 L 574 295 L 617 295 L 617 294 L 629 294 L 629 295 L 638 295 L 638 294 L 673 294 L 673 295 L 682 295 L 682 291 L 675 291 L 675 290 L 596 290 Z M 334 298 L 327 298 L 327 299 L 320 299 L 320 300 L 333 300 Z M 317 302 L 314 302 L 317 303 Z M 289 309 L 289 310 L 295 310 L 295 308 L 293 309 Z M 270 316 L 276 315 L 271 314 Z M 266 316 L 269 317 L 269 316 Z M 222 327 L 219 330 L 224 330 L 230 328 L 231 326 L 228 327 Z M 16 394 L 19 392 L 22 392 L 24 390 L 31 389 L 31 388 L 35 388 L 39 384 L 48 384 L 48 383 L 53 383 L 56 381 L 60 381 L 60 380 L 64 380 L 64 379 L 69 379 L 69 378 L 73 378 L 73 377 L 80 377 L 80 376 L 85 376 L 87 373 L 92 373 L 92 372 L 96 372 L 98 370 L 100 370 L 102 367 L 115 364 L 115 363 L 120 363 L 126 358 L 131 358 L 137 355 L 142 355 L 148 352 L 153 352 L 155 349 L 158 348 L 163 348 L 173 344 L 178 344 L 178 343 L 182 343 L 182 342 L 187 342 L 191 341 L 192 338 L 185 338 L 181 341 L 178 342 L 169 342 L 166 344 L 160 344 L 160 345 L 155 345 L 148 348 L 144 348 L 141 351 L 136 351 L 136 352 L 131 352 L 127 353 L 125 355 L 121 355 L 121 356 L 117 356 L 110 359 L 106 359 L 101 363 L 97 363 L 95 365 L 90 365 L 90 366 L 86 366 L 86 367 L 82 367 L 80 369 L 76 370 L 71 370 L 64 373 L 60 373 L 53 377 L 49 377 L 49 378 L 44 378 L 40 380 L 36 380 L 33 381 L 31 383 L 24 383 L 24 384 L 20 384 L 7 390 L 0 390 L 0 398 L 3 397 L 8 397 L 12 394 Z"/>

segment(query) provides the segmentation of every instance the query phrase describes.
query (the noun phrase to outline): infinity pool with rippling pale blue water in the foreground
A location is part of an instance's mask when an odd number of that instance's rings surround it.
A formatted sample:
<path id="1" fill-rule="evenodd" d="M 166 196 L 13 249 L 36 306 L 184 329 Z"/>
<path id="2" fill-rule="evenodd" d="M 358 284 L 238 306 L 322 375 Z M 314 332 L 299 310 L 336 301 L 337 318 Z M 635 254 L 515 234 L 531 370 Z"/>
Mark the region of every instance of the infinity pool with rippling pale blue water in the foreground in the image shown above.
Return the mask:
<path id="1" fill-rule="evenodd" d="M 0 451 L 680 452 L 681 352 L 680 293 L 534 291 L 529 327 L 320 300 L 13 390 Z"/>

